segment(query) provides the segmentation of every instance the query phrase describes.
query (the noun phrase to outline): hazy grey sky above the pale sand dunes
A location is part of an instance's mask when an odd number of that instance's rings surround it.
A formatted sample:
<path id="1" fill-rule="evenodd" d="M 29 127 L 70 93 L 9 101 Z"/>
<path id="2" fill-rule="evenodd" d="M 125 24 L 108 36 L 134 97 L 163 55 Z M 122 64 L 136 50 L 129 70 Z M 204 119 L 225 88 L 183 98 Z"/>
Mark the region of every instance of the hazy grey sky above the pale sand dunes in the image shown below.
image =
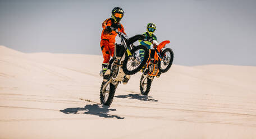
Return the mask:
<path id="1" fill-rule="evenodd" d="M 102 22 L 116 6 L 125 11 L 121 22 L 128 36 L 156 23 L 158 40 L 171 41 L 175 64 L 256 66 L 254 0 L 0 0 L 0 45 L 26 53 L 102 55 Z"/>

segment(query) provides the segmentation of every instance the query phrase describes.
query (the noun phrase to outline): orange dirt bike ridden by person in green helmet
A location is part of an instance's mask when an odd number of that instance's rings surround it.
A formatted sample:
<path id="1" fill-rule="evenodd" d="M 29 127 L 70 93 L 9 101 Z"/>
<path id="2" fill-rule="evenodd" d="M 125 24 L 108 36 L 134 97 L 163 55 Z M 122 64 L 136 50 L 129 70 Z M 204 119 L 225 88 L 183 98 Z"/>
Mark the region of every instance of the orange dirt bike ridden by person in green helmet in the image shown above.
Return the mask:
<path id="1" fill-rule="evenodd" d="M 150 49 L 148 62 L 140 78 L 140 92 L 143 95 L 148 95 L 154 77 L 167 72 L 173 61 L 172 49 L 165 48 L 165 45 L 170 43 L 169 40 L 162 41 L 160 44 L 156 40 L 149 41 L 152 42 L 153 49 Z"/>

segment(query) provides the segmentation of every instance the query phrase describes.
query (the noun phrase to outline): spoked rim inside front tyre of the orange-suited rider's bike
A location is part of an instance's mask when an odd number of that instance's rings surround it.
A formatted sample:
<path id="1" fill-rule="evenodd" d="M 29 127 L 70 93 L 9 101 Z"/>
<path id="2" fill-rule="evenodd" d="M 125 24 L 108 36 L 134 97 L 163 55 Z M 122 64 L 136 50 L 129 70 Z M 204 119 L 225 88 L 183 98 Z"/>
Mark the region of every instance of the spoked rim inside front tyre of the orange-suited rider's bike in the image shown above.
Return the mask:
<path id="1" fill-rule="evenodd" d="M 143 49 L 136 50 L 127 61 L 127 64 L 126 64 L 127 70 L 133 71 L 136 68 L 138 68 L 140 66 L 140 63 L 143 61 L 144 56 L 145 56 L 145 50 Z"/>

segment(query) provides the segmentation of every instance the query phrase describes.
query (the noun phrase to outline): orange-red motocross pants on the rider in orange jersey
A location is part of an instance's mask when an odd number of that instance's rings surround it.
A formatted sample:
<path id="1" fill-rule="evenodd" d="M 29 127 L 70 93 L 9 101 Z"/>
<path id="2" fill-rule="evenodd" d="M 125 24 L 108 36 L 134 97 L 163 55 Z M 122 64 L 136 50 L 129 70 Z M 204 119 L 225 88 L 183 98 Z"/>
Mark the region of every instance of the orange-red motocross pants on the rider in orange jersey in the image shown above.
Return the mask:
<path id="1" fill-rule="evenodd" d="M 102 50 L 102 54 L 103 54 L 103 58 L 104 58 L 103 63 L 108 63 L 110 56 L 111 57 L 114 56 L 115 44 L 109 42 L 107 39 L 102 39 L 100 41 L 100 48 Z"/>

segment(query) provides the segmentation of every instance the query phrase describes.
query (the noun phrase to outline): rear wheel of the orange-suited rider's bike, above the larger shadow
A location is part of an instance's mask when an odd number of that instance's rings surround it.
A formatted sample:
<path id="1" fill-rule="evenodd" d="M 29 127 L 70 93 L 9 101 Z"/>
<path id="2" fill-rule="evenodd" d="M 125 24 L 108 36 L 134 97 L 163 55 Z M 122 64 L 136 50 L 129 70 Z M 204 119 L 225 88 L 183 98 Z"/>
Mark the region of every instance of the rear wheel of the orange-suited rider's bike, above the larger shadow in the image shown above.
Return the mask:
<path id="1" fill-rule="evenodd" d="M 100 103 L 104 105 L 110 105 L 113 101 L 115 92 L 116 92 L 116 86 L 109 83 L 106 87 L 106 89 L 103 90 L 103 86 L 106 84 L 106 82 L 102 82 L 102 85 L 100 87 L 100 94 L 99 99 Z"/>

